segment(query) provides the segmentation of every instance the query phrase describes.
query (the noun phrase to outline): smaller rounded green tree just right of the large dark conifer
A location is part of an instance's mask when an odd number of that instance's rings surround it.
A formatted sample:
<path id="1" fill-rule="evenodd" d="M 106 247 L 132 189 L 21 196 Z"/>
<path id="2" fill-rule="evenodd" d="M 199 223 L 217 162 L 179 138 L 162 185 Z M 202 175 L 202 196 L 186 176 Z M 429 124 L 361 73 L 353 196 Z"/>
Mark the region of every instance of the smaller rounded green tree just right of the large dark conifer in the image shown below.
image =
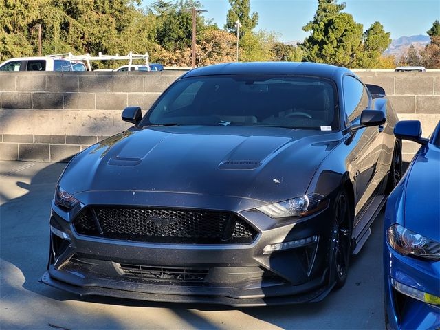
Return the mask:
<path id="1" fill-rule="evenodd" d="M 371 27 L 364 32 L 356 66 L 377 67 L 381 54 L 391 43 L 390 35 L 390 32 L 384 31 L 381 23 L 371 24 Z"/>

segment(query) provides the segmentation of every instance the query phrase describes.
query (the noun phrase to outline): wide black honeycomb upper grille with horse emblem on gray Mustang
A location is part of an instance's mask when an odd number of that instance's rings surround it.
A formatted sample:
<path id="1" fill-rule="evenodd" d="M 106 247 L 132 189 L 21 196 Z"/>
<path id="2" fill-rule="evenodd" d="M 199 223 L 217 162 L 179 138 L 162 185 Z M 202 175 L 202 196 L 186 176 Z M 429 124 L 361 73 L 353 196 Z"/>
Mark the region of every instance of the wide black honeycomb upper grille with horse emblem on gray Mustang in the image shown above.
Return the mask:
<path id="1" fill-rule="evenodd" d="M 257 234 L 231 212 L 162 208 L 87 208 L 74 221 L 78 234 L 151 243 L 251 243 Z"/>

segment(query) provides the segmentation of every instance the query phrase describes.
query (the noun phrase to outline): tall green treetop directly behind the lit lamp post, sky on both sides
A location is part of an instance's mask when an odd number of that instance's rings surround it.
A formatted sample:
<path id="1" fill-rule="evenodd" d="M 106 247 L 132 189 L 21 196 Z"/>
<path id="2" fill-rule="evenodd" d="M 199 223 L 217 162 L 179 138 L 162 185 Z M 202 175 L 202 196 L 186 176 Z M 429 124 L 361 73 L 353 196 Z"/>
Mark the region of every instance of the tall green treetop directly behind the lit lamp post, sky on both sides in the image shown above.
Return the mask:
<path id="1" fill-rule="evenodd" d="M 250 0 L 229 0 L 231 5 L 226 16 L 225 30 L 236 32 L 235 22 L 240 20 L 241 28 L 239 29 L 240 38 L 248 32 L 252 32 L 259 21 L 259 14 L 252 12 L 250 14 Z"/>

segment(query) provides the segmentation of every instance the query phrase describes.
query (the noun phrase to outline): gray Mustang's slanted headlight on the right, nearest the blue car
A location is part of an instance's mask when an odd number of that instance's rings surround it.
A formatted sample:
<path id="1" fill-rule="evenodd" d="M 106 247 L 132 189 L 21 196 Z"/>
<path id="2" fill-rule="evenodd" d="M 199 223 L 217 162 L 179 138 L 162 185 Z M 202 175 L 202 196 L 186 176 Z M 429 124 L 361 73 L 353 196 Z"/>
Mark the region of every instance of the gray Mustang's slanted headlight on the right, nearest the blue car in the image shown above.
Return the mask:
<path id="1" fill-rule="evenodd" d="M 323 196 L 309 194 L 260 206 L 256 209 L 271 218 L 305 217 L 322 210 L 327 206 L 327 203 L 328 201 L 325 201 Z"/>

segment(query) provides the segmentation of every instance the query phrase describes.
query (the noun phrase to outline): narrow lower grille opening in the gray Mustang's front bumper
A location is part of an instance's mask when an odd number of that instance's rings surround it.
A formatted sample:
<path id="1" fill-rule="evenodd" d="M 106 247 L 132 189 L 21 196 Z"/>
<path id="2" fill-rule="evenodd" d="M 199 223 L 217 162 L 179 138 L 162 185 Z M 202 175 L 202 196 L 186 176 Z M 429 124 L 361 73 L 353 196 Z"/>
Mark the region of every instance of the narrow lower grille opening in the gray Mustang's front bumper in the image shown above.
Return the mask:
<path id="1" fill-rule="evenodd" d="M 201 282 L 208 274 L 207 269 L 193 269 L 180 267 L 157 267 L 144 265 L 126 265 L 120 264 L 120 270 L 125 276 L 135 278 L 145 278 L 148 280 L 163 281 L 186 281 Z"/>

